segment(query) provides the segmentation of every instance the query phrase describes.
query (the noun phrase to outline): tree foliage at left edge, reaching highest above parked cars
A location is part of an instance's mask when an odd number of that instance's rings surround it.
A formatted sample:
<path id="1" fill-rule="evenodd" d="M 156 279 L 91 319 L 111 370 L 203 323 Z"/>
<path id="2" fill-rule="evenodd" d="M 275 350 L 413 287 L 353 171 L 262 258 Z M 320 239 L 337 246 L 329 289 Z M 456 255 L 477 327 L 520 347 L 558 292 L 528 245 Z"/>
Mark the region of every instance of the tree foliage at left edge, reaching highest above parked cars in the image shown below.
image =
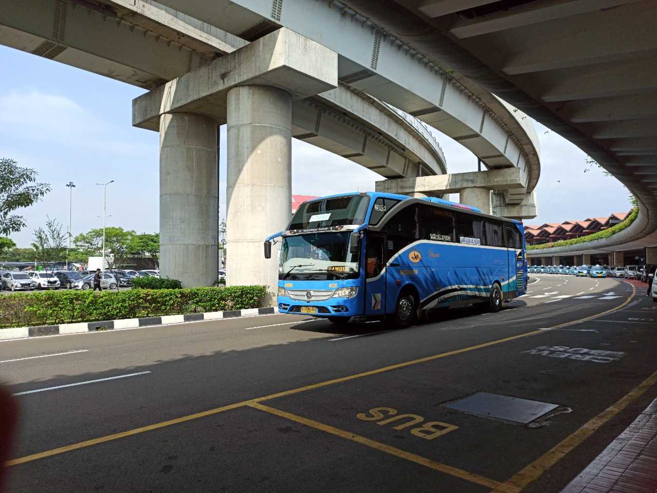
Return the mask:
<path id="1" fill-rule="evenodd" d="M 51 191 L 48 183 L 37 183 L 37 176 L 37 172 L 21 168 L 13 159 L 0 158 L 0 235 L 24 228 L 25 218 L 11 212 L 31 206 Z"/>

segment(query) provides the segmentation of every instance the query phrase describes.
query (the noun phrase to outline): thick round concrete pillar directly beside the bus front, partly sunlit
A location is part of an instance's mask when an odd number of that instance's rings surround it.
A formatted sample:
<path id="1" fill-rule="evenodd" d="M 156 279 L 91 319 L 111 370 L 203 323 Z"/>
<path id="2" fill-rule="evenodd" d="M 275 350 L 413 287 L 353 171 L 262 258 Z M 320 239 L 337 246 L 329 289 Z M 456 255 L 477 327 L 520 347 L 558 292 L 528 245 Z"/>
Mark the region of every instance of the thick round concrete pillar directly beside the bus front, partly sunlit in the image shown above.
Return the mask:
<path id="1" fill-rule="evenodd" d="M 263 241 L 292 216 L 292 98 L 275 87 L 235 87 L 227 122 L 226 284 L 267 285 L 275 294 L 277 248 L 267 260 Z"/>

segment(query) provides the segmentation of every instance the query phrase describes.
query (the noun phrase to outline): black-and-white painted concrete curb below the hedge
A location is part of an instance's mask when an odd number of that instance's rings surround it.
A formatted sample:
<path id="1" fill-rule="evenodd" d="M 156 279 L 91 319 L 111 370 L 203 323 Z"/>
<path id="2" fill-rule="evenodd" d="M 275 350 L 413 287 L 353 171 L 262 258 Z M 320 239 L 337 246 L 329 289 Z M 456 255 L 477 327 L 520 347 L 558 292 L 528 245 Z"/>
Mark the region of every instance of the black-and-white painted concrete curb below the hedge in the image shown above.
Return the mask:
<path id="1" fill-rule="evenodd" d="M 0 340 L 43 337 L 45 335 L 82 334 L 85 332 L 111 331 L 113 329 L 135 329 L 147 325 L 170 325 L 171 323 L 200 320 L 219 320 L 223 318 L 269 315 L 277 312 L 278 308 L 270 306 L 268 308 L 246 308 L 245 310 L 227 310 L 225 312 L 206 312 L 202 314 L 163 315 L 161 317 L 60 323 L 59 325 L 39 325 L 37 327 L 11 327 L 10 329 L 0 329 Z"/>

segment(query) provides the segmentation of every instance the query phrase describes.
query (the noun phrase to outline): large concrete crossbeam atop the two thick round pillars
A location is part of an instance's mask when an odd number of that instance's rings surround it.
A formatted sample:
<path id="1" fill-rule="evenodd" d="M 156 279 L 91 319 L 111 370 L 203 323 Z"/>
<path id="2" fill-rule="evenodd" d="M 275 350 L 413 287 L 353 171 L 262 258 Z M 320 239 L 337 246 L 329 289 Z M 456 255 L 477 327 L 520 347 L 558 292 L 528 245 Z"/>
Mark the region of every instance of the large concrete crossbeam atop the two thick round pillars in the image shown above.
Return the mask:
<path id="1" fill-rule="evenodd" d="M 338 56 L 281 28 L 135 98 L 133 126 L 158 129 L 160 115 L 171 112 L 205 114 L 223 124 L 227 93 L 240 85 L 277 87 L 292 101 L 304 99 L 337 87 Z"/>

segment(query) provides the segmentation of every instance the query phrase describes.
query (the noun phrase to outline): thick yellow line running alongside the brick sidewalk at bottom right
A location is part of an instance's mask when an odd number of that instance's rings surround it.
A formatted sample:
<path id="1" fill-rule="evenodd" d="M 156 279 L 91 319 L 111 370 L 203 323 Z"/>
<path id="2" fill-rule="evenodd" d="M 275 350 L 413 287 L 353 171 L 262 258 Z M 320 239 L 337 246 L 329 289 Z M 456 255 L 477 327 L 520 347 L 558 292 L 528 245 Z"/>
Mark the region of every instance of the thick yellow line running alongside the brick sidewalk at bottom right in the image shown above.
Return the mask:
<path id="1" fill-rule="evenodd" d="M 645 379 L 638 387 L 633 388 L 623 396 L 618 402 L 612 404 L 612 406 L 606 408 L 599 415 L 593 417 L 587 421 L 578 431 L 570 434 L 564 440 L 556 444 L 551 450 L 548 450 L 541 457 L 533 461 L 530 465 L 522 469 L 520 472 L 516 473 L 509 479 L 505 481 L 506 486 L 511 486 L 518 488 L 516 491 L 521 491 L 525 486 L 530 484 L 530 482 L 538 479 L 545 471 L 550 469 L 555 465 L 560 459 L 562 459 L 568 452 L 576 448 L 581 442 L 589 438 L 597 429 L 599 429 L 604 423 L 616 416 L 620 411 L 627 408 L 629 404 L 637 400 L 643 392 L 648 390 L 657 383 L 657 371 L 652 373 L 650 377 Z M 507 490 L 503 488 L 496 488 L 491 491 L 491 493 L 505 492 Z"/>

